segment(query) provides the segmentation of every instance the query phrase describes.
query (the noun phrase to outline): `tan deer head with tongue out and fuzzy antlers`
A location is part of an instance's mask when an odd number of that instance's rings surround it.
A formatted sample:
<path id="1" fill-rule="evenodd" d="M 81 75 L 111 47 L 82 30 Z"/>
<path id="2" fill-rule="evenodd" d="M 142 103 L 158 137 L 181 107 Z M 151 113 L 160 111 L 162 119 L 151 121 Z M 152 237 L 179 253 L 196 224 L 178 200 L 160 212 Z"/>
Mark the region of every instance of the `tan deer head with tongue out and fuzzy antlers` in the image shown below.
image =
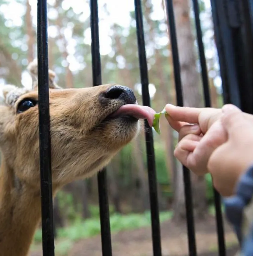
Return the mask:
<path id="1" fill-rule="evenodd" d="M 7 85 L 0 106 L 0 148 L 15 179 L 40 189 L 37 61 L 28 65 L 32 90 Z M 91 176 L 138 133 L 139 118 L 154 110 L 139 106 L 131 89 L 105 84 L 62 89 L 49 70 L 53 188 Z"/>

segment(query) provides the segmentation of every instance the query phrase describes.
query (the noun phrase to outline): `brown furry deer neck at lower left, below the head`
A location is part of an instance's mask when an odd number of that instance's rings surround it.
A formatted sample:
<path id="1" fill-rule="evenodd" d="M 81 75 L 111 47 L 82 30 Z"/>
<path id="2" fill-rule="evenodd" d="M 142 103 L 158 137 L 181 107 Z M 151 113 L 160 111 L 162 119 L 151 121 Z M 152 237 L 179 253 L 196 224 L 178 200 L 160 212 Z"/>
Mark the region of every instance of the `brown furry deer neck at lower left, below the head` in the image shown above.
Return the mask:
<path id="1" fill-rule="evenodd" d="M 3 157 L 3 156 L 2 156 Z M 26 256 L 41 218 L 40 191 L 21 184 L 2 159 L 0 170 L 0 255 Z"/>

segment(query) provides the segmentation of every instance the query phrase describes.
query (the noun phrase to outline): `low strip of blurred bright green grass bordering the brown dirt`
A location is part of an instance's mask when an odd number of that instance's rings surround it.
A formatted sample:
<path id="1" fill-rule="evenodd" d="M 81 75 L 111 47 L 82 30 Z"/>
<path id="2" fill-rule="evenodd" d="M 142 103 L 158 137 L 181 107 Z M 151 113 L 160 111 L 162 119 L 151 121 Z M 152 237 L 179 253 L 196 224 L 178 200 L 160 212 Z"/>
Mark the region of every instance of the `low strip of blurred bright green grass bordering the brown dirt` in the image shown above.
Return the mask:
<path id="1" fill-rule="evenodd" d="M 215 214 L 214 206 L 209 207 L 209 213 Z M 55 241 L 55 255 L 65 256 L 68 251 L 73 247 L 74 242 L 96 236 L 100 234 L 100 219 L 97 214 L 97 209 L 94 206 L 93 216 L 87 220 L 76 219 L 73 224 L 57 229 L 57 239 Z M 160 212 L 160 222 L 169 220 L 173 217 L 172 211 Z M 111 232 L 116 233 L 123 230 L 133 230 L 142 227 L 150 227 L 151 219 L 150 212 L 144 213 L 131 213 L 131 214 L 118 214 L 112 213 L 110 217 Z M 36 250 L 41 246 L 42 233 L 41 229 L 37 229 L 34 236 L 34 243 L 31 246 L 32 250 Z M 215 248 L 213 248 L 215 249 Z"/>

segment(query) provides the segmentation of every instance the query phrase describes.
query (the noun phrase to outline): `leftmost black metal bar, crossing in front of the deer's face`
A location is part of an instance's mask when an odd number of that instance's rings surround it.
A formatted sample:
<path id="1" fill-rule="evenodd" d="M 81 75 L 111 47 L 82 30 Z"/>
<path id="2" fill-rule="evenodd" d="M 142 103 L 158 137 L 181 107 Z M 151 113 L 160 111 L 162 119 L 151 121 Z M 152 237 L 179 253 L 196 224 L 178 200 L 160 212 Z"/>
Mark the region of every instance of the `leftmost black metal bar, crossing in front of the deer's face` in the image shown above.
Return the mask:
<path id="1" fill-rule="evenodd" d="M 54 255 L 51 141 L 49 114 L 47 1 L 37 2 L 38 106 L 43 256 Z"/>

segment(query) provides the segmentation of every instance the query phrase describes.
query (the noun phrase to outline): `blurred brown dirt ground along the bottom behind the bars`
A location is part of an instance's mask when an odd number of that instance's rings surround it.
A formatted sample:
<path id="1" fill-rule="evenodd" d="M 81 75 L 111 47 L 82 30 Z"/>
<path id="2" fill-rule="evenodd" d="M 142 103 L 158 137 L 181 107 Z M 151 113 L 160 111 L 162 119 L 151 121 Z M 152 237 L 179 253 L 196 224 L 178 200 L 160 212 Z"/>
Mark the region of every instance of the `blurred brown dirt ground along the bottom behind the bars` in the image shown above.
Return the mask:
<path id="1" fill-rule="evenodd" d="M 195 223 L 197 252 L 199 256 L 216 256 L 217 235 L 214 217 Z M 234 232 L 225 223 L 227 256 L 233 256 L 238 250 L 238 243 Z M 161 224 L 163 256 L 188 255 L 187 229 L 185 223 L 175 223 L 173 220 Z M 113 256 L 153 256 L 151 228 L 121 231 L 112 234 Z M 66 252 L 67 256 L 101 256 L 100 236 L 83 239 L 72 245 Z M 41 256 L 41 250 L 32 251 L 29 256 Z"/>

